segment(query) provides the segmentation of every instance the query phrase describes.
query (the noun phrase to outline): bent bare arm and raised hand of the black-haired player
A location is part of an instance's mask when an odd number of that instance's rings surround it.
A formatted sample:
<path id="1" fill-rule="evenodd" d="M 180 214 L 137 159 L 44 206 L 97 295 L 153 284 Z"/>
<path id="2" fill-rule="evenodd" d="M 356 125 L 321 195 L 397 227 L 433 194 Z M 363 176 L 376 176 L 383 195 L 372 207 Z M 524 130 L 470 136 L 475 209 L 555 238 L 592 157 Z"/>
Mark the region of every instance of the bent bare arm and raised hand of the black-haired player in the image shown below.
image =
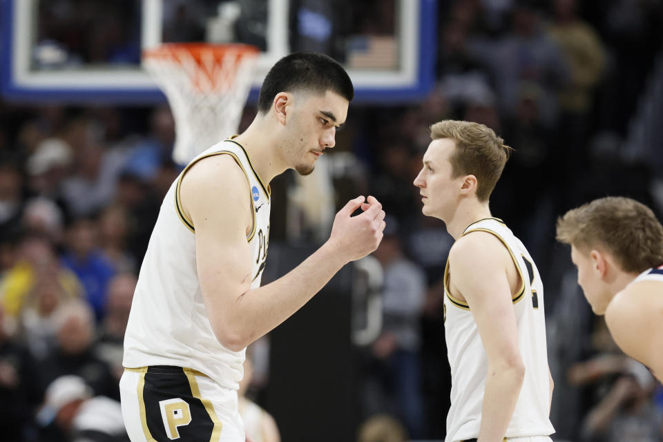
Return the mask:
<path id="1" fill-rule="evenodd" d="M 350 217 L 364 198 L 336 215 L 329 240 L 291 272 L 251 290 L 249 184 L 229 155 L 201 160 L 184 175 L 180 200 L 195 228 L 196 265 L 207 314 L 220 343 L 247 347 L 300 309 L 347 262 L 374 251 L 384 216 L 374 198 L 364 213 Z"/>

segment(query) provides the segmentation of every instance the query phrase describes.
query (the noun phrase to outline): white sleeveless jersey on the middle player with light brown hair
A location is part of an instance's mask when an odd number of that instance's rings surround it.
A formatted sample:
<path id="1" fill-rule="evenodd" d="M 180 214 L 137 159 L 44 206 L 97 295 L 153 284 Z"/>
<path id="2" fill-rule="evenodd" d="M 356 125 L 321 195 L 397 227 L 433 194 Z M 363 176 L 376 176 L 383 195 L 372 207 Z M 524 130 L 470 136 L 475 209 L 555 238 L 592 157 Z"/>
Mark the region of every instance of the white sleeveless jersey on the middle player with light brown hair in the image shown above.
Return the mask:
<path id="1" fill-rule="evenodd" d="M 552 434 L 555 430 L 548 419 L 550 384 L 544 287 L 539 271 L 523 243 L 513 236 L 501 220 L 479 220 L 470 224 L 463 235 L 474 231 L 492 233 L 501 240 L 511 254 L 523 281 L 521 289 L 513 297 L 513 309 L 518 327 L 518 345 L 526 371 L 506 436 Z M 448 284 L 453 275 L 450 275 L 448 261 L 444 273 L 444 328 L 452 376 L 451 407 L 447 416 L 445 441 L 453 442 L 479 436 L 488 356 L 468 303 L 450 294 Z M 477 269 L 477 278 L 482 278 L 481 269 Z"/>

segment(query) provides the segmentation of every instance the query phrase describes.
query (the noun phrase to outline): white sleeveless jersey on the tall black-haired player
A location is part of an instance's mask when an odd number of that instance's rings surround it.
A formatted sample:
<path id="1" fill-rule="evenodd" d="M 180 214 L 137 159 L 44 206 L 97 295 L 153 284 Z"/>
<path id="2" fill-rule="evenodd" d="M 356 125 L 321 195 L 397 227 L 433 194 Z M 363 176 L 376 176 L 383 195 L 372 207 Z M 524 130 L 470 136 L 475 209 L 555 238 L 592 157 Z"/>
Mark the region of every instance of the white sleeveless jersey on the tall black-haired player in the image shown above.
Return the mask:
<path id="1" fill-rule="evenodd" d="M 198 370 L 222 387 L 237 390 L 244 376 L 244 350 L 232 352 L 216 339 L 195 266 L 195 228 L 182 211 L 184 173 L 212 155 L 231 155 L 249 182 L 253 227 L 247 235 L 253 265 L 251 289 L 260 287 L 269 245 L 269 186 L 253 170 L 244 148 L 229 139 L 207 149 L 173 182 L 140 268 L 124 336 L 124 367 L 175 365 Z M 224 191 L 224 189 L 219 189 Z"/>

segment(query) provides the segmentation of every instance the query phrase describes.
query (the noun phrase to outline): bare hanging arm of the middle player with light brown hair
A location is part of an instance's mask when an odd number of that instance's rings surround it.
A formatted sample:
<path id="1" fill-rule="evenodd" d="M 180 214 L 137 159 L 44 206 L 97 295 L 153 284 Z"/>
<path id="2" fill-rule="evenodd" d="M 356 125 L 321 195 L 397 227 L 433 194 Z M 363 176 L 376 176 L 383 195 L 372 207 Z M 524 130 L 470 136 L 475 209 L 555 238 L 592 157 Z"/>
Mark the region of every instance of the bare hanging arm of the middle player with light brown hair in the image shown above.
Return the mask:
<path id="1" fill-rule="evenodd" d="M 499 239 L 485 232 L 459 238 L 449 263 L 452 282 L 470 305 L 488 355 L 479 441 L 499 442 L 506 434 L 525 376 L 506 271 L 513 263 Z"/>

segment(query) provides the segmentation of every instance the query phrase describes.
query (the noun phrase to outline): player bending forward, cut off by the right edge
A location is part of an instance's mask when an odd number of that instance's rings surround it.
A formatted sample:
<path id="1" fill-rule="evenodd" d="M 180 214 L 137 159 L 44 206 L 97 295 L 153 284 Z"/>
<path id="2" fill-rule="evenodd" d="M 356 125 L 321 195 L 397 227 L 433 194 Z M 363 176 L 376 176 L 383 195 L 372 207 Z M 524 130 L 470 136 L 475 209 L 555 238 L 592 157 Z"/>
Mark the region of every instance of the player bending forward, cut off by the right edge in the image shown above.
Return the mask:
<path id="1" fill-rule="evenodd" d="M 663 381 L 663 226 L 630 198 L 594 200 L 557 220 L 578 284 L 615 343 Z"/>

